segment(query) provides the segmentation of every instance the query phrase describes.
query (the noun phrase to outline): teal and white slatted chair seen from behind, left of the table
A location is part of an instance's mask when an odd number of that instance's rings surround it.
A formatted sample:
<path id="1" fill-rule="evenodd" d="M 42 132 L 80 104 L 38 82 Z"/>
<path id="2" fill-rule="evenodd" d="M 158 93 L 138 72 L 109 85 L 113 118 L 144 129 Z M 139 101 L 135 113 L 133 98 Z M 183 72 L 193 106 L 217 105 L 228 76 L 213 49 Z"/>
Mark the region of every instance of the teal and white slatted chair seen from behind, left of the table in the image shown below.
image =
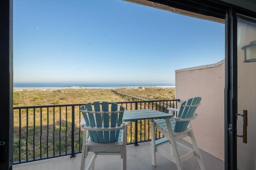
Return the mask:
<path id="1" fill-rule="evenodd" d="M 126 127 L 130 122 L 122 123 L 124 107 L 120 106 L 118 111 L 117 104 L 111 103 L 109 111 L 108 102 L 102 102 L 102 109 L 100 102 L 94 102 L 93 106 L 94 111 L 91 103 L 80 108 L 84 117 L 80 123 L 80 127 L 84 129 L 80 170 L 85 168 L 88 152 L 93 152 L 93 155 L 86 170 L 94 170 L 97 155 L 120 155 L 121 169 L 126 170 Z"/>

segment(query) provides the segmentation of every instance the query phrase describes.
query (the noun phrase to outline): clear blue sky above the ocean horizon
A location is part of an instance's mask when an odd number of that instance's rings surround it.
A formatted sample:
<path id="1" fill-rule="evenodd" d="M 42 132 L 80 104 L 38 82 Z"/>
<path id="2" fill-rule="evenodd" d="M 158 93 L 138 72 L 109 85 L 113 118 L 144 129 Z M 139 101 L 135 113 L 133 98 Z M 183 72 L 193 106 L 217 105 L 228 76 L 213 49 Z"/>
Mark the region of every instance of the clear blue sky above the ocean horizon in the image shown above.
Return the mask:
<path id="1" fill-rule="evenodd" d="M 224 59 L 224 31 L 122 0 L 14 0 L 14 82 L 174 83 Z"/>

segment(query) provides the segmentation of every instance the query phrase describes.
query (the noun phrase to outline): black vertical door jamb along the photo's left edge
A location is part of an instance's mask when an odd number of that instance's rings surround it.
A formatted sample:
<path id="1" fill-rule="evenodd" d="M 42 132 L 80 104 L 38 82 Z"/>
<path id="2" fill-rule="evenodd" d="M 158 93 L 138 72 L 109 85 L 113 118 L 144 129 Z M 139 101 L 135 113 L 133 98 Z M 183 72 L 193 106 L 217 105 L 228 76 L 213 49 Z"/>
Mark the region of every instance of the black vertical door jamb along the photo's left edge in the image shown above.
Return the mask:
<path id="1" fill-rule="evenodd" d="M 12 76 L 12 0 L 0 1 L 0 169 L 12 170 L 13 76 Z"/>

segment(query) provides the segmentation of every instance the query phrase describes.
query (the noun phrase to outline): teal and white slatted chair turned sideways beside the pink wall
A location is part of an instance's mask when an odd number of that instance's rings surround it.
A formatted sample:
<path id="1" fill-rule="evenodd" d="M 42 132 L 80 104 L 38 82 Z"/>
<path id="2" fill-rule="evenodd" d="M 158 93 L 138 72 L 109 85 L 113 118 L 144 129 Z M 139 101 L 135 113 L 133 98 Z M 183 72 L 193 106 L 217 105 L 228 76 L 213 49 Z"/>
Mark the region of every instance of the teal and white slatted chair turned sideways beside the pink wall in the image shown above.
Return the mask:
<path id="1" fill-rule="evenodd" d="M 169 113 L 172 113 L 172 111 L 178 111 L 177 117 L 171 117 L 170 121 L 166 121 L 165 119 L 158 119 L 154 121 L 156 129 L 164 135 L 164 138 L 156 141 L 152 140 L 152 165 L 156 166 L 156 152 L 158 152 L 165 158 L 176 163 L 178 170 L 183 170 L 182 162 L 192 156 L 196 156 L 201 170 L 205 170 L 200 151 L 196 144 L 192 126 L 190 125 L 190 121 L 197 117 L 197 113 L 195 113 L 195 111 L 200 105 L 200 102 L 200 97 L 190 98 L 188 101 L 181 103 L 180 109 L 168 108 Z M 186 136 L 191 138 L 193 149 L 177 142 L 178 139 L 182 139 Z M 170 145 L 170 152 L 168 153 L 166 150 L 161 149 L 161 145 Z M 187 152 L 187 154 L 180 157 L 178 147 L 179 149 Z"/>

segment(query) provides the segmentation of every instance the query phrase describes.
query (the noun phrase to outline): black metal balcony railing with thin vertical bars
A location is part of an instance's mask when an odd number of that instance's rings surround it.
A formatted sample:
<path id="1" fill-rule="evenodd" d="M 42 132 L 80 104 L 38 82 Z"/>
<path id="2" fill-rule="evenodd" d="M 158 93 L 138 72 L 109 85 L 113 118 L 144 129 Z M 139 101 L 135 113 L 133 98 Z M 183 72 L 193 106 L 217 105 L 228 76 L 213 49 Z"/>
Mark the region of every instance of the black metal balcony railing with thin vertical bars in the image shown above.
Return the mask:
<path id="1" fill-rule="evenodd" d="M 116 102 L 126 110 L 154 109 L 167 113 L 180 100 Z M 83 131 L 80 129 L 83 104 L 14 107 L 14 164 L 80 153 Z M 155 138 L 163 137 L 156 131 Z M 150 120 L 131 122 L 127 127 L 127 145 L 151 140 Z"/>

